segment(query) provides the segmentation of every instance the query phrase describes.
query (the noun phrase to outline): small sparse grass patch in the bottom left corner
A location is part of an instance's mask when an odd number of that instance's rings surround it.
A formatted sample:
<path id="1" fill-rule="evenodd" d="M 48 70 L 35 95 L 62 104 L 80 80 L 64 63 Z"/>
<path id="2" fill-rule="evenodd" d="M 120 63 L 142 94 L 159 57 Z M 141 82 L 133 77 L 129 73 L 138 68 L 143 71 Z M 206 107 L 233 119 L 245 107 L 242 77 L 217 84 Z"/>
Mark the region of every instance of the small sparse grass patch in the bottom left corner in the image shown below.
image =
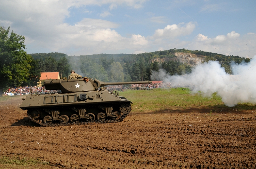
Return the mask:
<path id="1" fill-rule="evenodd" d="M 1 165 L 49 165 L 49 162 L 42 161 L 40 159 L 34 158 L 20 158 L 18 157 L 7 157 L 2 156 L 0 157 L 0 164 Z"/>

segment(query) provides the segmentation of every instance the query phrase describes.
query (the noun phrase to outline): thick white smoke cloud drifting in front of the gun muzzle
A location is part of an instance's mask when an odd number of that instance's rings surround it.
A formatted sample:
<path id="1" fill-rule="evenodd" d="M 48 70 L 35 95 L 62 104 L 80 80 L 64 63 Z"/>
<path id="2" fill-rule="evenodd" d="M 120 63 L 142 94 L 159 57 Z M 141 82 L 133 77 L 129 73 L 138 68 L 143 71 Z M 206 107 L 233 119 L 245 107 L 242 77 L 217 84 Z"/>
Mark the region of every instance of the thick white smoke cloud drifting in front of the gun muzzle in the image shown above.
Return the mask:
<path id="1" fill-rule="evenodd" d="M 171 82 L 172 87 L 189 87 L 195 93 L 201 91 L 204 96 L 211 97 L 217 92 L 229 107 L 244 102 L 255 104 L 256 56 L 248 64 L 232 63 L 231 68 L 233 75 L 227 74 L 218 61 L 209 61 L 197 65 L 191 74 L 170 76 L 161 69 L 158 77 L 164 82 Z"/>

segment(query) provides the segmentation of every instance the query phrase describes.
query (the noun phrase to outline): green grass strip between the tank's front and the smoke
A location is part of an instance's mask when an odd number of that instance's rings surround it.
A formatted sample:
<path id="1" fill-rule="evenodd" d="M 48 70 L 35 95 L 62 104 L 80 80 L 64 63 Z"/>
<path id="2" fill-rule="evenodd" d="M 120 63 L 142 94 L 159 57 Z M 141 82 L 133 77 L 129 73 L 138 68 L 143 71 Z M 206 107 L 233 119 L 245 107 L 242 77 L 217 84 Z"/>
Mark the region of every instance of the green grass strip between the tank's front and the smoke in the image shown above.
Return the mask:
<path id="1" fill-rule="evenodd" d="M 126 97 L 132 104 L 132 112 L 154 112 L 166 109 L 209 109 L 208 113 L 216 109 L 237 109 L 237 111 L 256 109 L 252 103 L 242 103 L 235 107 L 227 107 L 221 97 L 214 93 L 210 98 L 201 93 L 193 94 L 189 88 L 156 88 L 153 90 L 127 90 L 119 95 Z"/>

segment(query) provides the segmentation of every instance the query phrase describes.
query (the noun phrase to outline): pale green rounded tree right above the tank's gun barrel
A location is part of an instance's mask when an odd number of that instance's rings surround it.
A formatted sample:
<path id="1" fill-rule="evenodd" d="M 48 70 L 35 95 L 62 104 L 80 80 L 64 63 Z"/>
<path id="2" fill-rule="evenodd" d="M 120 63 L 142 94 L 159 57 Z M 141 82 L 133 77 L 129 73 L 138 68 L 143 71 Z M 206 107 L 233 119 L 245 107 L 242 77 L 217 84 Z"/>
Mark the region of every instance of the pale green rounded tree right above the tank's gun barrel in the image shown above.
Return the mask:
<path id="1" fill-rule="evenodd" d="M 114 62 L 110 65 L 110 77 L 109 81 L 112 82 L 123 82 L 124 81 L 124 73 L 123 67 L 120 62 Z"/>

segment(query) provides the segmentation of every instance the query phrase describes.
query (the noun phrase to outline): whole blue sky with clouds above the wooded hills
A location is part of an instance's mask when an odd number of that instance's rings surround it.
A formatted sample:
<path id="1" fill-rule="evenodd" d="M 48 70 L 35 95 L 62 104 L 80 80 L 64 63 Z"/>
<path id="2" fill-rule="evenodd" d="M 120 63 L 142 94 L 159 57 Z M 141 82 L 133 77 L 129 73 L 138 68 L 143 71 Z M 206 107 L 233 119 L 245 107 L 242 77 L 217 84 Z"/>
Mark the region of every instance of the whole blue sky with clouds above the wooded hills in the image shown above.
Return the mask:
<path id="1" fill-rule="evenodd" d="M 1 0 L 0 25 L 27 53 L 144 53 L 169 49 L 252 58 L 255 0 Z"/>

